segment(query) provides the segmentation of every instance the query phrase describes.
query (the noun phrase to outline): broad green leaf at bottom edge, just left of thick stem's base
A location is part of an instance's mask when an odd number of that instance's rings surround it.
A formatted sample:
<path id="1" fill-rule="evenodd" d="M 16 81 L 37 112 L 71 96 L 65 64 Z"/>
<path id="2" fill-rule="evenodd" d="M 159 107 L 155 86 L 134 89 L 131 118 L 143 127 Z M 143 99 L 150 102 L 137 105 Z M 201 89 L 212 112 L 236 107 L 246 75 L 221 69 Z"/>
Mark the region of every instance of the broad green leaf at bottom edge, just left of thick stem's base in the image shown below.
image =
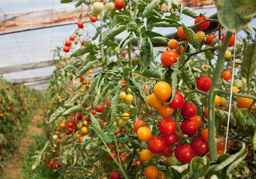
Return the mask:
<path id="1" fill-rule="evenodd" d="M 190 177 L 193 179 L 198 179 L 199 177 L 202 177 L 209 168 L 209 164 L 209 159 L 206 156 L 194 157 L 189 164 Z"/>

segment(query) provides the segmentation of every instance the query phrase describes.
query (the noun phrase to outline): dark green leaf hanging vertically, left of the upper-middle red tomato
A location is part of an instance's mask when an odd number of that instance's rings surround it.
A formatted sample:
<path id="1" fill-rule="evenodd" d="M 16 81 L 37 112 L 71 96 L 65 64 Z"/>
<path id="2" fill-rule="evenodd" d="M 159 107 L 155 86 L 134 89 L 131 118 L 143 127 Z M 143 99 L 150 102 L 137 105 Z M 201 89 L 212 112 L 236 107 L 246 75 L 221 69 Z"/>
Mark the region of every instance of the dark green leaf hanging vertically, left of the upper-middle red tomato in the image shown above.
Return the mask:
<path id="1" fill-rule="evenodd" d="M 146 69 L 149 66 L 151 62 L 151 56 L 153 53 L 153 46 L 148 37 L 146 37 L 146 39 L 142 41 L 140 51 L 141 51 L 140 58 L 141 58 L 141 72 L 142 72 L 144 69 Z"/>

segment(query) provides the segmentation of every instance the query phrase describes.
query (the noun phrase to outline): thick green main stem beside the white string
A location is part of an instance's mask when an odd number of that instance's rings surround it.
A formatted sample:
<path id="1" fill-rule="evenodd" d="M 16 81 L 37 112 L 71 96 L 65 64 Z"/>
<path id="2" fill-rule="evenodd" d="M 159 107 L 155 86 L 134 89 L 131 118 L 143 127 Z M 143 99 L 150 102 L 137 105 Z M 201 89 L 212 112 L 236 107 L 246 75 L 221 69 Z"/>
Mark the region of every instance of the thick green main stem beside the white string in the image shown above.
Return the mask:
<path id="1" fill-rule="evenodd" d="M 216 139 L 215 139 L 215 115 L 214 115 L 214 101 L 216 93 L 214 91 L 218 87 L 219 79 L 221 73 L 223 71 L 223 65 L 225 62 L 224 55 L 225 51 L 228 48 L 228 43 L 231 39 L 232 33 L 227 32 L 226 38 L 223 44 L 219 47 L 219 54 L 216 63 L 216 67 L 214 70 L 211 88 L 207 94 L 208 99 L 208 145 L 209 145 L 209 152 L 210 152 L 210 160 L 216 161 L 217 160 L 217 147 L 216 147 Z"/>

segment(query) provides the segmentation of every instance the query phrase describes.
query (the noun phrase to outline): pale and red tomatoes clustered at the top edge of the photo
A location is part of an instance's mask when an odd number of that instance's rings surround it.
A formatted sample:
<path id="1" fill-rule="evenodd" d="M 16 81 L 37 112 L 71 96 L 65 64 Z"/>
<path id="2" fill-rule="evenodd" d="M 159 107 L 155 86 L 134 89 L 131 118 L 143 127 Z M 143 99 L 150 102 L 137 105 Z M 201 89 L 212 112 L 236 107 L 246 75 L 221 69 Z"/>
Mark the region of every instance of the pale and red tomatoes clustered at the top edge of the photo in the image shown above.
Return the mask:
<path id="1" fill-rule="evenodd" d="M 104 0 L 101 0 L 101 2 L 98 2 L 96 0 L 90 0 L 92 7 L 91 11 L 94 14 L 93 16 L 90 17 L 90 20 L 92 23 L 95 23 L 97 21 L 97 16 L 103 11 L 104 9 Z M 106 9 L 111 11 L 114 10 L 114 8 L 121 10 L 125 2 L 124 0 L 114 0 L 114 2 L 107 2 L 106 4 Z"/>

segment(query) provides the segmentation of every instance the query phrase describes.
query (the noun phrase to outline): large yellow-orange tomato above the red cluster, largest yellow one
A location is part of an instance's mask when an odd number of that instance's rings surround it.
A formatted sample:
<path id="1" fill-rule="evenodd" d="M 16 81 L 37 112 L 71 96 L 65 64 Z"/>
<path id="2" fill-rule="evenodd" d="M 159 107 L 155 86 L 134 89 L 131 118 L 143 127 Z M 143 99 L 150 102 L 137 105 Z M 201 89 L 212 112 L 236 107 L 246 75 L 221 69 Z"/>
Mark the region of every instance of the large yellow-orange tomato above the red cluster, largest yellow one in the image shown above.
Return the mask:
<path id="1" fill-rule="evenodd" d="M 154 86 L 155 97 L 160 101 L 166 101 L 171 97 L 171 86 L 165 81 L 159 81 Z"/>

